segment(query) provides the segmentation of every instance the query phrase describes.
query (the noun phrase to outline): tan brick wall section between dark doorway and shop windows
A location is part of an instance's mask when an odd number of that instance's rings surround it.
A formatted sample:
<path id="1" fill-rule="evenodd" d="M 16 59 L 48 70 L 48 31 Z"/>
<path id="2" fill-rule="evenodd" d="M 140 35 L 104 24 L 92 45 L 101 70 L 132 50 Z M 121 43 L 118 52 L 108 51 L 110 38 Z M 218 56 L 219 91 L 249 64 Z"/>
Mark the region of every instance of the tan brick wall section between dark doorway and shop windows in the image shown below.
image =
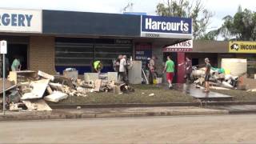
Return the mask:
<path id="1" fill-rule="evenodd" d="M 55 74 L 54 37 L 31 36 L 29 45 L 29 69 Z"/>

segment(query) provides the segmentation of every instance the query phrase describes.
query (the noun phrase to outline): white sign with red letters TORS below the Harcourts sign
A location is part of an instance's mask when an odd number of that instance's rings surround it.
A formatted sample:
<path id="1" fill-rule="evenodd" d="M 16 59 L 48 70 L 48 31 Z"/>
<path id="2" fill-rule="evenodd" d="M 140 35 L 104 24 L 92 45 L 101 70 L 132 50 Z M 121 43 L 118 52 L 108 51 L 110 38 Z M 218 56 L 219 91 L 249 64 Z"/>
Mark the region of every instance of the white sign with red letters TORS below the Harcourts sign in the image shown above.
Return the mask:
<path id="1" fill-rule="evenodd" d="M 193 40 L 179 42 L 163 48 L 163 52 L 188 52 L 193 50 Z"/>

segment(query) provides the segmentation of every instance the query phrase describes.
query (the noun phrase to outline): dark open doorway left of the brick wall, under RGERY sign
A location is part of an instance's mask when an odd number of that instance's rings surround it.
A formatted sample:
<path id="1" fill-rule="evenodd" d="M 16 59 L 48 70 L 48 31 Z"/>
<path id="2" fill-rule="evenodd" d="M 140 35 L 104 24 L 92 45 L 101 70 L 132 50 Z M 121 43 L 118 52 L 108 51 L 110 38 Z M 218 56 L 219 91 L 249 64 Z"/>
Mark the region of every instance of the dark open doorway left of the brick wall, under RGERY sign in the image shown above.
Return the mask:
<path id="1" fill-rule="evenodd" d="M 10 66 L 17 57 L 22 65 L 22 70 L 27 70 L 27 45 L 26 44 L 8 44 L 6 58 L 8 58 Z M 9 70 L 11 70 L 9 66 Z"/>

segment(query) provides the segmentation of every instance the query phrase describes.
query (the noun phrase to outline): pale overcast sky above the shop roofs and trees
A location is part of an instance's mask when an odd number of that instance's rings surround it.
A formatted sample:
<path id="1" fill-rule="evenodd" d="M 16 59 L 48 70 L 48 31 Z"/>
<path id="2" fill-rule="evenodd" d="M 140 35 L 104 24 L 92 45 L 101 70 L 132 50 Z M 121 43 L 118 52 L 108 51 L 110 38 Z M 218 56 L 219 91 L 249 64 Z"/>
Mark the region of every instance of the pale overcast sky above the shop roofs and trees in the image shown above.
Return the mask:
<path id="1" fill-rule="evenodd" d="M 190 0 L 192 2 L 193 0 Z M 122 13 L 129 2 L 134 3 L 133 12 L 146 12 L 155 15 L 158 2 L 164 0 L 0 0 L 0 8 L 70 10 L 99 13 Z M 256 0 L 202 0 L 208 10 L 214 13 L 208 30 L 222 26 L 222 18 L 234 15 L 241 5 L 242 9 L 256 11 Z"/>

